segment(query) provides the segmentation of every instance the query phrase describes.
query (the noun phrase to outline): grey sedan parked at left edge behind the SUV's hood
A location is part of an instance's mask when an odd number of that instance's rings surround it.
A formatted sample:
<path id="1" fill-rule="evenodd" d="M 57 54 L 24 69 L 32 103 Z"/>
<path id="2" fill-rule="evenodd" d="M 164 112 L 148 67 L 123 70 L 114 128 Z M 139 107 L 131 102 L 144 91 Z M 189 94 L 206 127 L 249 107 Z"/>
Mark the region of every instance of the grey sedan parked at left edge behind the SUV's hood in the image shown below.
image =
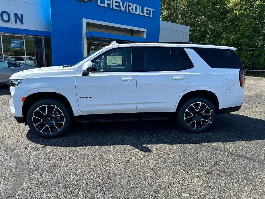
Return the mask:
<path id="1" fill-rule="evenodd" d="M 14 73 L 36 68 L 38 67 L 16 61 L 0 59 L 0 85 L 8 84 L 9 77 L 11 77 L 11 75 L 13 75 Z"/>

